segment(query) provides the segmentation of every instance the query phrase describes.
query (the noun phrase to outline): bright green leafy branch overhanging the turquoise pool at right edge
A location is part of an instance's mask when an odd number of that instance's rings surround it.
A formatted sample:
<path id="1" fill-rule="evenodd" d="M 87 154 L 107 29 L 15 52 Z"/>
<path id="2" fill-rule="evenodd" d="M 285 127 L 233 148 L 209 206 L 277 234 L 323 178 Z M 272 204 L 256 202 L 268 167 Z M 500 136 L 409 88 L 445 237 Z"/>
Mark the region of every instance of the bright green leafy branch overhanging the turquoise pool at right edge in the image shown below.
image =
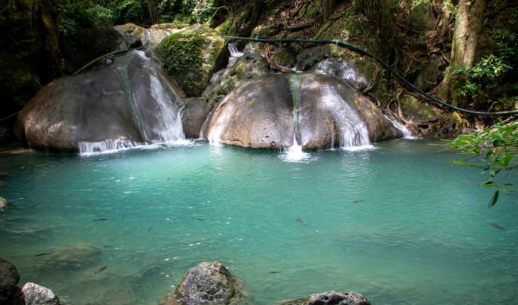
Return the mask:
<path id="1" fill-rule="evenodd" d="M 498 194 L 510 188 L 508 184 L 495 182 L 497 174 L 517 167 L 518 120 L 502 121 L 470 135 L 459 135 L 450 145 L 463 154 L 478 157 L 475 162 L 456 160 L 453 163 L 479 168 L 487 175 L 480 186 L 497 189 L 489 202 L 489 207 L 494 206 Z"/>

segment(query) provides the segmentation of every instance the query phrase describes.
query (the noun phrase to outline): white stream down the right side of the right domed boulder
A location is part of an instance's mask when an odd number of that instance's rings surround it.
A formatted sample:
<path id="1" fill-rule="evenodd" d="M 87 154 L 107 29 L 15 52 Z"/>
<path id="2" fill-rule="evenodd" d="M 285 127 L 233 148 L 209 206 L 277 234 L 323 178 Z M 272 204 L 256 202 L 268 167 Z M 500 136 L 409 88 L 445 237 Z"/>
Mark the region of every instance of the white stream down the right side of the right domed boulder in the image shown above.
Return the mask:
<path id="1" fill-rule="evenodd" d="M 329 85 L 321 87 L 324 104 L 340 128 L 340 148 L 346 150 L 372 149 L 369 132 L 356 110 L 344 100 L 336 89 Z M 333 143 L 334 145 L 334 143 Z"/>

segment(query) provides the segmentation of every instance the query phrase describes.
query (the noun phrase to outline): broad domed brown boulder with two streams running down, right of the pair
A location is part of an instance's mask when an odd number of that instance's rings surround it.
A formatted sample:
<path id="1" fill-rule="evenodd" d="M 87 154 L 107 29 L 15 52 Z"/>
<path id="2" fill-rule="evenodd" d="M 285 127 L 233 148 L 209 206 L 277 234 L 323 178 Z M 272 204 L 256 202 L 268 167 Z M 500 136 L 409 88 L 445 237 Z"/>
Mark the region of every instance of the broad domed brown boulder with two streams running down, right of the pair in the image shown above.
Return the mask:
<path id="1" fill-rule="evenodd" d="M 275 74 L 244 82 L 214 109 L 205 134 L 213 144 L 307 149 L 401 136 L 363 94 L 323 74 Z"/>

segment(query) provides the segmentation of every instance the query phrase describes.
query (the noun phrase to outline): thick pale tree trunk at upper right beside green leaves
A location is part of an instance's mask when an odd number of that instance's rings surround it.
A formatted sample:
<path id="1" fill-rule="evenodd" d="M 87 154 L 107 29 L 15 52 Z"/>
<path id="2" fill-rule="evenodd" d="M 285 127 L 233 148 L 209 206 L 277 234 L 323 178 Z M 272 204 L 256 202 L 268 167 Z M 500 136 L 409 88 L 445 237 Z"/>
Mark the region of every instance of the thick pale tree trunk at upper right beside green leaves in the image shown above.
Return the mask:
<path id="1" fill-rule="evenodd" d="M 469 69 L 475 65 L 478 38 L 484 22 L 484 10 L 485 0 L 459 1 L 453 44 L 451 45 L 450 67 L 446 70 L 446 76 L 436 90 L 443 101 L 451 101 L 459 106 L 465 104 L 465 101 L 458 100 L 453 96 L 451 79 L 447 77 L 447 74 L 456 66 Z"/>

